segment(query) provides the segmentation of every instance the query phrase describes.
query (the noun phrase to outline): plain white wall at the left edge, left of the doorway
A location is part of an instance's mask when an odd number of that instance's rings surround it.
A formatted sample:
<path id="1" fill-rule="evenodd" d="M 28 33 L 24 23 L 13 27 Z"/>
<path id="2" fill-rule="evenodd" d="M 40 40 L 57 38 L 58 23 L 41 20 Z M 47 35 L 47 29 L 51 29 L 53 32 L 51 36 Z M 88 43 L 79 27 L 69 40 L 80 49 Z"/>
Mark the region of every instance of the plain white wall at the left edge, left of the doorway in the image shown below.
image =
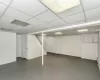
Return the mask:
<path id="1" fill-rule="evenodd" d="M 16 61 L 16 34 L 0 32 L 0 65 Z"/>

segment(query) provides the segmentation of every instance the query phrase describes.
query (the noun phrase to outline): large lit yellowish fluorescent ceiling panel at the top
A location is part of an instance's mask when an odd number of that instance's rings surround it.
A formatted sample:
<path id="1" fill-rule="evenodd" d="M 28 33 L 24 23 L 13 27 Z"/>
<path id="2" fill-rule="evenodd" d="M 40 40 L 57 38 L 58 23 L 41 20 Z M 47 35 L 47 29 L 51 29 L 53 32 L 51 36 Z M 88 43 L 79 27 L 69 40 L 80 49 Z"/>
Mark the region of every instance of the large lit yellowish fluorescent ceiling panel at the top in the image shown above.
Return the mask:
<path id="1" fill-rule="evenodd" d="M 59 13 L 80 4 L 80 0 L 41 0 L 52 11 Z"/>

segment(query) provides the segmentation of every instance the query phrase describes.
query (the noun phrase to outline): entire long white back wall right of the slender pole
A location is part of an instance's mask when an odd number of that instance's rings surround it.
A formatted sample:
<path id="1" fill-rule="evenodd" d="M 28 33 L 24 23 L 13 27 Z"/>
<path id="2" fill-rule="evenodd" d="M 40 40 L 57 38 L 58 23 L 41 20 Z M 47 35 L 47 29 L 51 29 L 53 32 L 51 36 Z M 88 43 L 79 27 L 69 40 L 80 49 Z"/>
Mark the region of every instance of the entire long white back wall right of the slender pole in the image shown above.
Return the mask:
<path id="1" fill-rule="evenodd" d="M 47 52 L 97 60 L 98 34 L 45 37 Z"/>

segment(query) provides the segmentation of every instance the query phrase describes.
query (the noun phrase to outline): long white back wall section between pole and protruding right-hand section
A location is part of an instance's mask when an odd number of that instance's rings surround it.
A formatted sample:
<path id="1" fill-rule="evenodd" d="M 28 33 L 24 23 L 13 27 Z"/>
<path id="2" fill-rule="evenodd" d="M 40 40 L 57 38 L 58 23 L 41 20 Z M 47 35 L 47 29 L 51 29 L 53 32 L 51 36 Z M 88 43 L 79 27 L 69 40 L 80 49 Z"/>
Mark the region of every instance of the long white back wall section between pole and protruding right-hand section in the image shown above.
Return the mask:
<path id="1" fill-rule="evenodd" d="M 47 37 L 46 44 L 47 44 L 46 50 L 48 52 L 79 56 L 79 57 L 81 56 L 80 35 Z"/>

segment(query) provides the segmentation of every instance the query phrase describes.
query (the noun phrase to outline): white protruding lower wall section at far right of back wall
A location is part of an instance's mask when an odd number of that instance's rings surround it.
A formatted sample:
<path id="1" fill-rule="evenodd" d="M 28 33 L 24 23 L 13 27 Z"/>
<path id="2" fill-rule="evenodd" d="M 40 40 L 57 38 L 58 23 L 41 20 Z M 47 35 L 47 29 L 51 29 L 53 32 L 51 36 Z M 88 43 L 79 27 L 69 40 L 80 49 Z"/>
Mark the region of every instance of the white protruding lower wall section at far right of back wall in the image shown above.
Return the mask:
<path id="1" fill-rule="evenodd" d="M 97 60 L 98 43 L 83 43 L 81 58 Z"/>

